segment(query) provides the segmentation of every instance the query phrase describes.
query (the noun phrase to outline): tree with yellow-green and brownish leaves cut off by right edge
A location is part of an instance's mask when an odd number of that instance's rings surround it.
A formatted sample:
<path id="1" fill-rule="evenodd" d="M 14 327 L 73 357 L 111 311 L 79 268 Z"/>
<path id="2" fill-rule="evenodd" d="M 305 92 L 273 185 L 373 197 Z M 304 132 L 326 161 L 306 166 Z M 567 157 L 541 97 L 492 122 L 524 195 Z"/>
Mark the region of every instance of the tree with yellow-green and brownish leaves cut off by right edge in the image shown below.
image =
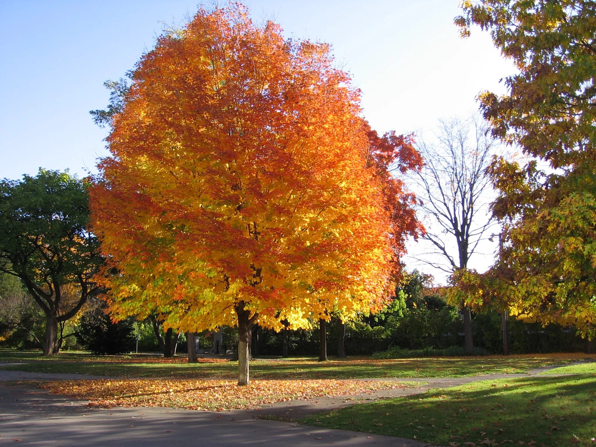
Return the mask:
<path id="1" fill-rule="evenodd" d="M 480 95 L 496 135 L 527 162 L 495 160 L 502 219 L 499 261 L 464 273 L 477 303 L 500 297 L 519 318 L 596 329 L 596 4 L 584 0 L 466 1 L 462 34 L 477 24 L 516 63 L 508 94 Z M 475 297 L 475 298 L 474 298 Z"/>

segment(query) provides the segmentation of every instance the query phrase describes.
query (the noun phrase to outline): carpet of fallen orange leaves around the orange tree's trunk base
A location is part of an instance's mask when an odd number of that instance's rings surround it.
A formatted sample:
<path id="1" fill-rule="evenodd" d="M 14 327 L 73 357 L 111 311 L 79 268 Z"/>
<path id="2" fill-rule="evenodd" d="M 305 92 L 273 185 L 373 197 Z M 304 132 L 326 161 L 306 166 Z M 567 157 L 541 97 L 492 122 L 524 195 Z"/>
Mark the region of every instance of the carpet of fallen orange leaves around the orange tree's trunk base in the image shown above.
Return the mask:
<path id="1" fill-rule="evenodd" d="M 414 383 L 381 380 L 60 380 L 39 385 L 53 394 L 101 406 L 169 406 L 207 411 L 253 409 L 267 403 L 375 390 L 405 389 Z"/>

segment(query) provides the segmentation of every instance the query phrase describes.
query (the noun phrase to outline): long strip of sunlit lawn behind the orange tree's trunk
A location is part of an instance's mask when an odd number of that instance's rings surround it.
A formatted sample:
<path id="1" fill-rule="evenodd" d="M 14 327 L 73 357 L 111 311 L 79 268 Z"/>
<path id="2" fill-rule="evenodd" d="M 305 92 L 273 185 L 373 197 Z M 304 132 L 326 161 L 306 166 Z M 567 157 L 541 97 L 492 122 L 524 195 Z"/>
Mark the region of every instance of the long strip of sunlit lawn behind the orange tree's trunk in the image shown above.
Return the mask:
<path id="1" fill-rule="evenodd" d="M 585 359 L 585 354 L 550 354 L 544 356 L 484 356 L 463 358 L 418 358 L 371 360 L 365 358 L 331 360 L 319 363 L 315 358 L 258 359 L 250 364 L 254 378 L 386 378 L 386 377 L 465 377 L 492 373 L 524 373 L 545 365 L 566 364 Z M 188 364 L 178 357 L 117 355 L 93 356 L 82 352 L 64 352 L 44 358 L 39 351 L 0 350 L 1 369 L 37 373 L 80 373 L 110 377 L 233 378 L 237 362 L 225 359 L 201 359 Z M 22 362 L 22 363 L 21 363 Z"/>

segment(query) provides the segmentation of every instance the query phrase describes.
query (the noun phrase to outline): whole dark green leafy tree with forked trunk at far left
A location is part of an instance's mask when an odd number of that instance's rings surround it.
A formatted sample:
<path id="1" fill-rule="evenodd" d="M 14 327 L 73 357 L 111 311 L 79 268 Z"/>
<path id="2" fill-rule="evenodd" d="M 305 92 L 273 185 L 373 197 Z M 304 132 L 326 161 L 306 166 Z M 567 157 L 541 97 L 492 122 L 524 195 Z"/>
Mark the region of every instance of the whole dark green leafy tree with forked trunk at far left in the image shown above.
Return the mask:
<path id="1" fill-rule="evenodd" d="M 44 312 L 44 355 L 58 353 L 64 322 L 98 292 L 103 258 L 88 222 L 86 182 L 68 172 L 0 181 L 0 271 L 20 278 Z"/>

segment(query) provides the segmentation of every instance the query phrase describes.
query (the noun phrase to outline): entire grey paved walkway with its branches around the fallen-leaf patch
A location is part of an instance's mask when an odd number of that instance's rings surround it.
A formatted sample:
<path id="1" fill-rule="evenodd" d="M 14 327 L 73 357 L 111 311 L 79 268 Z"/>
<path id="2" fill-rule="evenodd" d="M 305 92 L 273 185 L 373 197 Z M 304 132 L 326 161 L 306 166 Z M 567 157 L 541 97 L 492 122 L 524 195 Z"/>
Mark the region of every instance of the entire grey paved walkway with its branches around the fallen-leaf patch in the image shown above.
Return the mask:
<path id="1" fill-rule="evenodd" d="M 526 374 L 491 374 L 461 378 L 393 379 L 424 381 L 410 389 L 380 390 L 357 396 L 280 402 L 259 410 L 201 412 L 168 408 L 89 408 L 85 401 L 50 395 L 31 384 L 15 386 L 6 380 L 76 380 L 104 378 L 85 374 L 45 374 L 0 370 L 0 445 L 20 440 L 23 446 L 177 447 L 259 446 L 306 447 L 382 445 L 424 447 L 425 444 L 393 436 L 307 427 L 290 422 L 260 420 L 264 415 L 300 419 L 313 412 L 341 408 L 356 402 L 423 393 L 477 380 L 527 377 Z M 378 380 L 378 379 L 375 379 Z"/>

